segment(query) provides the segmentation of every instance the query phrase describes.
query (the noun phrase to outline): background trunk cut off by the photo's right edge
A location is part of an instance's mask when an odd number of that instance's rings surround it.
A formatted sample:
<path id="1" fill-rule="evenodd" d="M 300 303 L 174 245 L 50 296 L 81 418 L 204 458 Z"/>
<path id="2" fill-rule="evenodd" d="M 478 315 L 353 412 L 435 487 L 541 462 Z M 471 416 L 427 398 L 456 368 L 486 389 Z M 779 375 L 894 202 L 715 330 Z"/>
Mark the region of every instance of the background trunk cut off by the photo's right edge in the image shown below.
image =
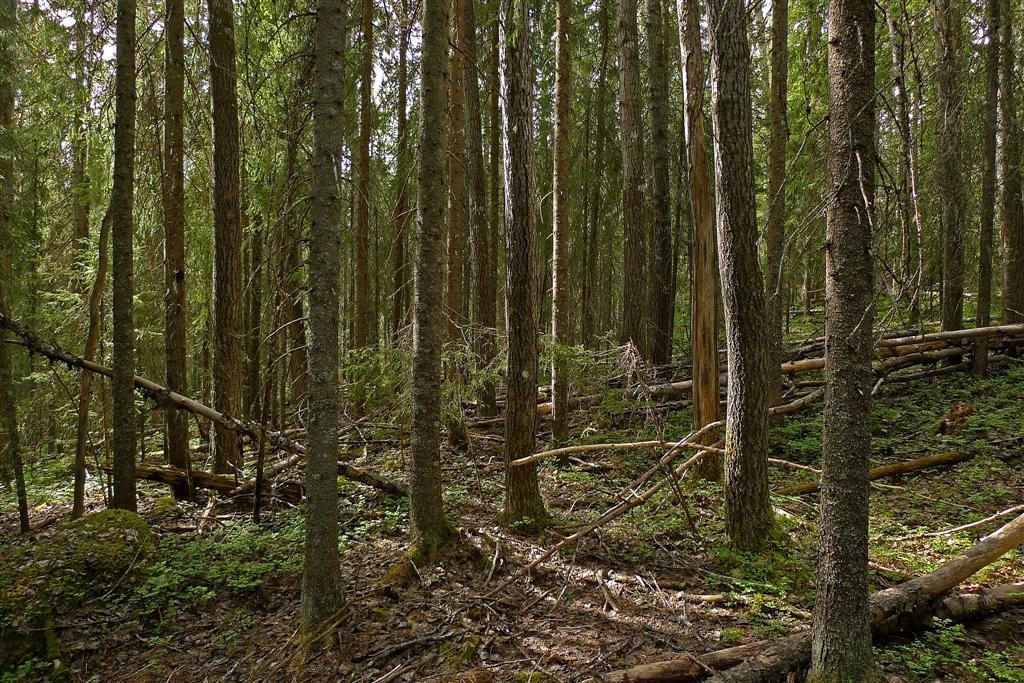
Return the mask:
<path id="1" fill-rule="evenodd" d="M 1015 94 L 1018 74 L 1014 48 L 1014 5 L 1002 0 L 999 41 L 1002 60 L 999 65 L 999 120 L 1002 123 L 1001 161 L 1002 196 L 999 213 L 1002 220 L 1005 269 L 1002 275 L 1002 323 L 1024 322 L 1024 196 L 1021 190 L 1021 123 Z"/>

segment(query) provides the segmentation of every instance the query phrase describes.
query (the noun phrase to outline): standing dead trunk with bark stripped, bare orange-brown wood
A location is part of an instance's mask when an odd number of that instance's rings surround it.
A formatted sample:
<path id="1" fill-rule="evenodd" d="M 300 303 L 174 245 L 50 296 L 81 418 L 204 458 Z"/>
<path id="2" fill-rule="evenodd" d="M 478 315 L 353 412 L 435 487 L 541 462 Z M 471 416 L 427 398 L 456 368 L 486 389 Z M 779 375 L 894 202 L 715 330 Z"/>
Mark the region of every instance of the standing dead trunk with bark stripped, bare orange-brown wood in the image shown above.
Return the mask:
<path id="1" fill-rule="evenodd" d="M 718 422 L 718 258 L 715 250 L 715 213 L 711 171 L 705 146 L 705 68 L 700 46 L 700 3 L 679 0 L 679 34 L 686 95 L 686 156 L 690 171 L 689 201 L 693 222 L 693 258 L 690 272 L 693 355 L 693 427 Z M 718 434 L 708 436 L 708 443 Z M 722 478 L 722 459 L 705 458 L 694 474 L 705 479 Z"/>

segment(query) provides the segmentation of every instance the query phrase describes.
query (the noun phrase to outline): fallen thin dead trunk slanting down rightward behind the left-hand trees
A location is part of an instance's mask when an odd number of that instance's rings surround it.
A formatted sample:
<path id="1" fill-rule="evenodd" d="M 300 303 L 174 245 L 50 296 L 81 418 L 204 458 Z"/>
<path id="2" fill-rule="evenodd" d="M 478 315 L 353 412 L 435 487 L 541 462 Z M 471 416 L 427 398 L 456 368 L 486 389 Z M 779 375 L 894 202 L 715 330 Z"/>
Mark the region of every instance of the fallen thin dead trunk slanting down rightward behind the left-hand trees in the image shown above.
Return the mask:
<path id="1" fill-rule="evenodd" d="M 98 362 L 93 362 L 91 360 L 85 360 L 74 353 L 65 351 L 58 346 L 49 344 L 40 339 L 39 335 L 27 328 L 25 325 L 15 319 L 6 317 L 3 314 L 0 314 L 0 328 L 6 328 L 20 337 L 30 352 L 40 353 L 51 360 L 62 362 L 69 368 L 78 368 L 80 370 L 85 370 L 104 377 L 114 376 L 114 371 L 106 366 L 101 366 Z M 189 398 L 188 396 L 182 396 L 179 393 L 169 391 L 166 387 L 163 387 L 152 380 L 147 380 L 144 377 L 135 375 L 134 384 L 135 388 L 141 391 L 143 395 L 162 408 L 176 408 L 189 413 L 195 413 L 196 415 L 204 417 L 207 420 L 220 425 L 224 429 L 250 437 L 258 435 L 261 431 L 261 428 L 258 425 L 246 422 L 245 420 L 238 420 L 229 415 L 215 411 L 209 405 L 201 403 L 198 400 Z M 285 433 L 279 431 L 267 431 L 266 437 L 272 447 L 293 454 L 290 458 L 279 464 L 281 469 L 273 472 L 273 474 L 276 474 L 287 467 L 291 467 L 305 458 L 305 446 L 292 440 Z M 287 463 L 287 465 L 285 463 Z M 387 481 L 386 479 L 382 479 L 375 474 L 351 465 L 340 467 L 339 473 L 346 479 L 352 479 L 353 481 L 366 483 L 388 493 L 404 489 L 404 487 L 400 484 L 393 481 Z M 271 476 L 271 474 L 269 474 L 269 470 L 267 476 Z M 252 488 L 250 487 L 249 490 L 252 490 Z"/>

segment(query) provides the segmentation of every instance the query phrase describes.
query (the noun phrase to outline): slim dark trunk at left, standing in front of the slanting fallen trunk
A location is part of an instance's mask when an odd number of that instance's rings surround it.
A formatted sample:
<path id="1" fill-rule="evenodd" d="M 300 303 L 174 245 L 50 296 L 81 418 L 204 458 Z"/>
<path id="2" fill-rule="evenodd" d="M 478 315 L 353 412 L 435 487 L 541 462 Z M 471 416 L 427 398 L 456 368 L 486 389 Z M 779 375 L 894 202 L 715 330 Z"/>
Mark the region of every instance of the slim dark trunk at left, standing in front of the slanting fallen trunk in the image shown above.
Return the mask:
<path id="1" fill-rule="evenodd" d="M 135 167 L 135 0 L 117 3 L 114 115 L 114 507 L 134 510 L 135 324 L 132 279 L 132 208 Z"/>

